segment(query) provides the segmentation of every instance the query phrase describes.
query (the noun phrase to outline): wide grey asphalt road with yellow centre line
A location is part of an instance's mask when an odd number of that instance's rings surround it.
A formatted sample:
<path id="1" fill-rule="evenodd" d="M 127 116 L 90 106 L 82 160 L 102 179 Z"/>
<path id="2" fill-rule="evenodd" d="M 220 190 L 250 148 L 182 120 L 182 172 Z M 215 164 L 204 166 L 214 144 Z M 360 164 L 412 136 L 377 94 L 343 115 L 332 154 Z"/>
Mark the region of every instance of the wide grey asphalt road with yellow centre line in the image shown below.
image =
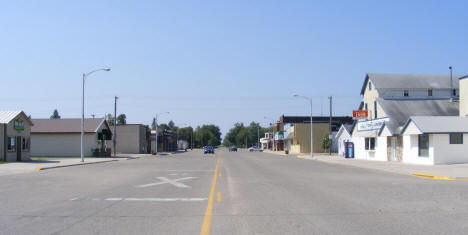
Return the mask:
<path id="1" fill-rule="evenodd" d="M 218 150 L 0 177 L 0 234 L 466 234 L 468 182 Z"/>

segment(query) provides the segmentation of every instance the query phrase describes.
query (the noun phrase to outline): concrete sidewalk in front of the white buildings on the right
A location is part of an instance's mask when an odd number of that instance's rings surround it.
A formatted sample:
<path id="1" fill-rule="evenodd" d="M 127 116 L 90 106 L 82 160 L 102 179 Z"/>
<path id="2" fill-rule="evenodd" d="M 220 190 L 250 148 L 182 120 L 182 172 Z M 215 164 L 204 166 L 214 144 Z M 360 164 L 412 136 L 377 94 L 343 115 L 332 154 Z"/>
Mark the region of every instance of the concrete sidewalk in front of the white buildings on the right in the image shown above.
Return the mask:
<path id="1" fill-rule="evenodd" d="M 310 159 L 308 154 L 288 154 L 285 155 L 283 151 L 272 152 L 270 150 L 264 151 L 265 153 L 282 155 L 284 157 L 295 157 Z M 451 164 L 451 165 L 415 165 L 401 162 L 383 162 L 383 161 L 370 161 L 370 160 L 359 160 L 353 158 L 344 158 L 337 154 L 328 153 L 317 153 L 314 154 L 312 160 L 321 161 L 332 164 L 341 164 L 353 167 L 360 167 L 372 170 L 381 170 L 403 175 L 414 175 L 424 178 L 433 179 L 462 179 L 468 180 L 468 163 L 465 164 Z"/>

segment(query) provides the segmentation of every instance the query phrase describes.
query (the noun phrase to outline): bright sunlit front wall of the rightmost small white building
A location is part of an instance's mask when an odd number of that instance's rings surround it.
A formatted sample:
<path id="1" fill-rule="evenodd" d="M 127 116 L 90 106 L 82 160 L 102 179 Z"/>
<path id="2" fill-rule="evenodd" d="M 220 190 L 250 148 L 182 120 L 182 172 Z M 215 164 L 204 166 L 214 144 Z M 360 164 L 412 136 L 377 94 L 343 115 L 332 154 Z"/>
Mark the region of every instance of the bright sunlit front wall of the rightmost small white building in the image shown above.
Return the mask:
<path id="1" fill-rule="evenodd" d="M 429 135 L 429 156 L 420 157 L 418 147 L 418 135 L 403 136 L 403 159 L 404 163 L 434 165 L 434 148 L 432 147 L 432 135 Z"/>

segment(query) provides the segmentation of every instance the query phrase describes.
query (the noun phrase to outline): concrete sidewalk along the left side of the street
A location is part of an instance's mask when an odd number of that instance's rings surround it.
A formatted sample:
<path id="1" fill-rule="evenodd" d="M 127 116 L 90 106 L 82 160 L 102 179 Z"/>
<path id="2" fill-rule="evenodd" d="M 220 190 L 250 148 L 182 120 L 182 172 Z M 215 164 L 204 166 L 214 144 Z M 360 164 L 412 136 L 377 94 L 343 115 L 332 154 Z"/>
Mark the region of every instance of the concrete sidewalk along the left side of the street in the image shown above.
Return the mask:
<path id="1" fill-rule="evenodd" d="M 118 154 L 117 157 L 95 158 L 87 157 L 84 162 L 80 162 L 80 158 L 34 158 L 29 162 L 10 162 L 0 164 L 0 176 L 22 174 L 34 172 L 41 169 L 59 168 L 75 165 L 85 165 L 93 163 L 112 162 L 119 160 L 127 160 L 140 158 L 143 154 Z"/>

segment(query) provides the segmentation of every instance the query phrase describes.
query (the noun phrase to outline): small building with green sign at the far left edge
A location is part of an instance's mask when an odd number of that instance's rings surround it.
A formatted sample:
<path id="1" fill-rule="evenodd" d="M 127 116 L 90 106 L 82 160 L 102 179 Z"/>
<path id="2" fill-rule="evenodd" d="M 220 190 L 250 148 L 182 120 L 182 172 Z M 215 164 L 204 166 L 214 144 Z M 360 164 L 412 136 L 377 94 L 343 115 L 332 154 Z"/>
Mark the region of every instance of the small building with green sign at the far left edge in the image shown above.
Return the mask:
<path id="1" fill-rule="evenodd" d="M 31 160 L 31 126 L 23 111 L 0 111 L 0 160 Z"/>

